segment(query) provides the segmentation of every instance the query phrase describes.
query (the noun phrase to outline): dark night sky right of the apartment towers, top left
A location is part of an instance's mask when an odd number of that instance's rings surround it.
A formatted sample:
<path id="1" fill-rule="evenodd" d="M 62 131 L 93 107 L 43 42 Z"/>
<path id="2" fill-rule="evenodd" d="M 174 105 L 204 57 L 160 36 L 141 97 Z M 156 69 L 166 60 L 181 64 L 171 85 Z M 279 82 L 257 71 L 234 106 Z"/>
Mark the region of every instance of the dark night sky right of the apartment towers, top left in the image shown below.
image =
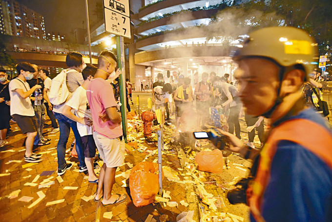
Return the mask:
<path id="1" fill-rule="evenodd" d="M 17 0 L 44 17 L 47 32 L 66 35 L 72 40 L 75 28 L 86 28 L 85 0 Z M 95 19 L 93 11 L 97 0 L 88 0 L 89 17 Z M 100 0 L 101 1 L 101 0 Z M 84 21 L 84 24 L 82 22 Z M 91 23 L 90 23 L 91 28 Z"/>

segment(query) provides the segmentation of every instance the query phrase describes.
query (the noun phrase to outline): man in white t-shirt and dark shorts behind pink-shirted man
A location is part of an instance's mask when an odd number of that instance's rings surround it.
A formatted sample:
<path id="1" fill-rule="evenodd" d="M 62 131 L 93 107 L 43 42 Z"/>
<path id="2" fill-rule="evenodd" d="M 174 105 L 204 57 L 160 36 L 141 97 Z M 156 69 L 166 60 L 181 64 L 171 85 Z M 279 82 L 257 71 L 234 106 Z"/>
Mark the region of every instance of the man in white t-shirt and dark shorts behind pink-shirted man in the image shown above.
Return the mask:
<path id="1" fill-rule="evenodd" d="M 93 170 L 93 157 L 96 155 L 97 146 L 92 135 L 92 116 L 86 97 L 86 88 L 93 79 L 96 71 L 97 67 L 92 65 L 87 65 L 83 69 L 82 75 L 84 82 L 82 86 L 75 90 L 72 97 L 62 109 L 62 115 L 77 122 L 77 130 L 83 142 L 84 161 L 89 173 L 88 181 L 90 183 L 98 183 L 97 175 Z M 76 115 L 72 113 L 72 110 L 75 111 Z"/>

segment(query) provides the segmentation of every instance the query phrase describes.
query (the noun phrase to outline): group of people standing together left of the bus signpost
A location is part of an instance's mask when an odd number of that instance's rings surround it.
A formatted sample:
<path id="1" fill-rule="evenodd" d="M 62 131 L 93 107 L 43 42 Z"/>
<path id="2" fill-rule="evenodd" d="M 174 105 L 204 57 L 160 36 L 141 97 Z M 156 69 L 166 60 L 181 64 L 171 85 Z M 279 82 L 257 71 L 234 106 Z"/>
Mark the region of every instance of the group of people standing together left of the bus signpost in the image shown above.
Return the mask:
<path id="1" fill-rule="evenodd" d="M 27 134 L 24 160 L 41 162 L 42 155 L 33 153 L 33 150 L 50 144 L 50 139 L 43 136 L 47 113 L 53 127 L 50 133 L 60 131 L 58 175 L 62 176 L 72 167 L 65 160 L 71 129 L 75 136 L 79 172 L 87 171 L 88 181 L 98 183 L 94 200 L 103 197 L 104 205 L 124 201 L 125 195 L 111 194 L 116 168 L 124 163 L 125 155 L 122 118 L 114 95 L 116 88 L 113 88 L 121 74 L 116 68 L 116 57 L 104 51 L 98 59 L 98 67 L 94 67 L 85 65 L 82 54 L 71 52 L 66 56 L 66 64 L 68 68 L 53 80 L 48 77 L 47 70 L 25 62 L 17 65 L 18 76 L 11 81 L 7 80 L 5 70 L 0 70 L 0 109 L 3 114 L 0 146 L 8 143 L 6 133 L 13 118 L 21 132 Z M 61 78 L 64 84 L 57 84 Z M 127 98 L 130 97 L 131 91 L 128 90 Z M 94 163 L 97 149 L 104 161 L 99 178 L 94 172 L 98 165 Z"/>

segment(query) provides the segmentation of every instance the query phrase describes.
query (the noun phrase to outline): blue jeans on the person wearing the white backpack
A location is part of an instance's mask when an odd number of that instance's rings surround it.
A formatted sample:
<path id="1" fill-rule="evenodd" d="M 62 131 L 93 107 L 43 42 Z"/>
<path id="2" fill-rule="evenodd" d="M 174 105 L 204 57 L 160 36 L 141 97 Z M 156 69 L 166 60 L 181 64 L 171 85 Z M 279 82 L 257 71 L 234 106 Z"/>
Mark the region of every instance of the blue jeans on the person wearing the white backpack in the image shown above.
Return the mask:
<path id="1" fill-rule="evenodd" d="M 85 167 L 83 143 L 79 131 L 77 130 L 76 122 L 62 115 L 61 113 L 54 112 L 54 117 L 58 120 L 60 128 L 60 138 L 57 146 L 58 153 L 58 169 L 63 169 L 66 165 L 64 159 L 66 152 L 66 144 L 69 138 L 70 128 L 73 130 L 76 139 L 76 152 L 79 157 L 80 167 Z"/>

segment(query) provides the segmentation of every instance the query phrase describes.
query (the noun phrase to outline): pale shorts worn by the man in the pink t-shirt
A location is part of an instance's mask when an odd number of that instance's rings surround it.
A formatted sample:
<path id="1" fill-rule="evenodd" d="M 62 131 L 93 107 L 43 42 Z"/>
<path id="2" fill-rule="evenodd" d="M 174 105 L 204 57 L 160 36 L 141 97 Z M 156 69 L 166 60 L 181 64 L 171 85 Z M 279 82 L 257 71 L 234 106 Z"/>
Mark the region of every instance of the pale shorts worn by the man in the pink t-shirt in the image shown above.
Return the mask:
<path id="1" fill-rule="evenodd" d="M 123 137 L 122 141 L 120 138 L 110 139 L 94 131 L 93 138 L 106 167 L 118 167 L 125 163 L 125 140 Z"/>

